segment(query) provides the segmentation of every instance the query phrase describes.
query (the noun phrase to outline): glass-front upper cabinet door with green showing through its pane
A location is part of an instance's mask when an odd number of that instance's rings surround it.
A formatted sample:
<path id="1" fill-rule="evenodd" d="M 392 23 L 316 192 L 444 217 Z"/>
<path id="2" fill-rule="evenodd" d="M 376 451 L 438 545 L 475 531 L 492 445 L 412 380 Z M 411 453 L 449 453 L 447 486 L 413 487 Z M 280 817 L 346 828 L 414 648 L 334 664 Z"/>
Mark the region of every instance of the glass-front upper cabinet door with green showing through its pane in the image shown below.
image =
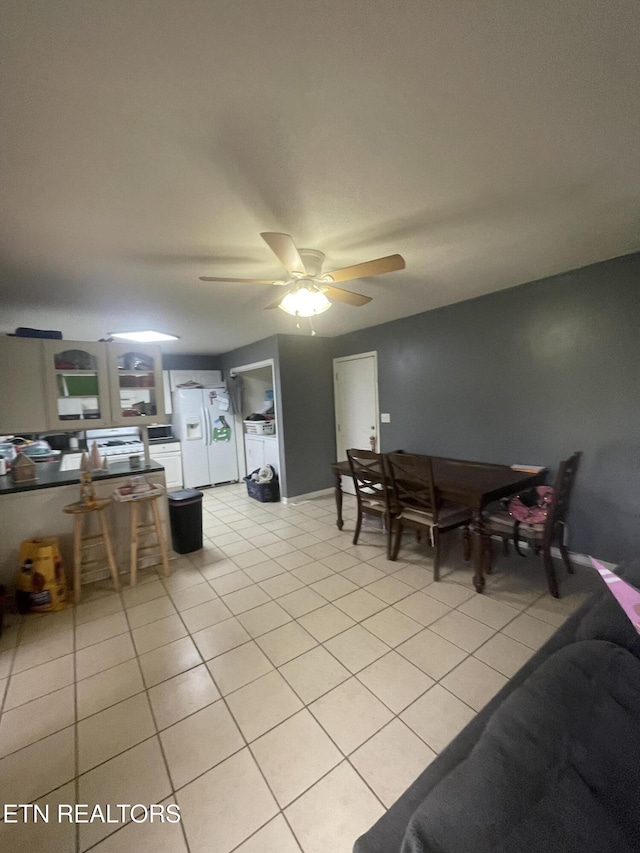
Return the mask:
<path id="1" fill-rule="evenodd" d="M 105 345 L 44 341 L 50 429 L 94 429 L 111 422 Z"/>

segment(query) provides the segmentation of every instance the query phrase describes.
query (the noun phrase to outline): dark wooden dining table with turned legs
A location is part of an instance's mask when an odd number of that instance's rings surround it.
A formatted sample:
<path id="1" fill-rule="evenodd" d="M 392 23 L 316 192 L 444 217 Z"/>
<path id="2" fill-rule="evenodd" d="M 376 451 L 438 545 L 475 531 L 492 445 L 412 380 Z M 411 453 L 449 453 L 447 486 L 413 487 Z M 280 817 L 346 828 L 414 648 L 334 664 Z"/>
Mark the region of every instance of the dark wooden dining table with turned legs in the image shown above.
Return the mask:
<path id="1" fill-rule="evenodd" d="M 431 457 L 433 479 L 438 494 L 443 500 L 468 507 L 473 514 L 473 585 L 482 592 L 485 585 L 483 571 L 485 531 L 482 511 L 500 498 L 537 486 L 545 482 L 547 469 L 516 470 L 508 465 L 493 465 L 488 462 L 471 462 L 464 459 Z M 349 462 L 334 462 L 331 465 L 335 485 L 338 530 L 342 530 L 342 477 L 350 477 Z"/>

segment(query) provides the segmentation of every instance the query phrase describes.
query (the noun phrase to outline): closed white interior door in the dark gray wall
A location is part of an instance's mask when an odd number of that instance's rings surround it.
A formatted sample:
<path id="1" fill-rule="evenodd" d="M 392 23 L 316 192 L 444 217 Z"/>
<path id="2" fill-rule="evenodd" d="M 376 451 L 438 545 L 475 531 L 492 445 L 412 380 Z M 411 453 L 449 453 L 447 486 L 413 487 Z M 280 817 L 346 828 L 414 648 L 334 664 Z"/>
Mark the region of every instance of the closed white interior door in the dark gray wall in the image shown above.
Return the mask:
<path id="1" fill-rule="evenodd" d="M 350 447 L 379 450 L 378 361 L 375 352 L 333 360 L 338 461 Z M 353 483 L 343 477 L 343 489 L 353 493 Z"/>

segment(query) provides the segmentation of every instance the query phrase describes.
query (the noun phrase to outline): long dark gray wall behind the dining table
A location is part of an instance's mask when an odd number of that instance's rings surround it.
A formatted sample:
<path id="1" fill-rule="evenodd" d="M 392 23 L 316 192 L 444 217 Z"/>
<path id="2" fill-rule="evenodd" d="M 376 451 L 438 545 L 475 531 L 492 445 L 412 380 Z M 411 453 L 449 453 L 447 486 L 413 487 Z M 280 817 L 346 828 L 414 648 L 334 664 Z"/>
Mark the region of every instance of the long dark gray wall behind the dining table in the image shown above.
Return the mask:
<path id="1" fill-rule="evenodd" d="M 582 450 L 570 548 L 640 554 L 640 254 L 333 339 L 334 357 L 369 350 L 383 451 L 555 473 Z"/>

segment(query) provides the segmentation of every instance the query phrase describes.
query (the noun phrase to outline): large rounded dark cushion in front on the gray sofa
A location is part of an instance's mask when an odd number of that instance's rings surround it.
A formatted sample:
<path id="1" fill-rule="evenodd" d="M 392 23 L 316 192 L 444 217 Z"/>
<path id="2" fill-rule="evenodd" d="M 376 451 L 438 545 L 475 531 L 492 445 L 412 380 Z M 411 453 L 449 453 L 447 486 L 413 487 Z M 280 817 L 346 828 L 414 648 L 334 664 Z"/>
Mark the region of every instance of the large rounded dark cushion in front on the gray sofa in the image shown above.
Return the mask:
<path id="1" fill-rule="evenodd" d="M 589 640 L 548 658 L 414 812 L 403 853 L 640 850 L 640 660 Z"/>

